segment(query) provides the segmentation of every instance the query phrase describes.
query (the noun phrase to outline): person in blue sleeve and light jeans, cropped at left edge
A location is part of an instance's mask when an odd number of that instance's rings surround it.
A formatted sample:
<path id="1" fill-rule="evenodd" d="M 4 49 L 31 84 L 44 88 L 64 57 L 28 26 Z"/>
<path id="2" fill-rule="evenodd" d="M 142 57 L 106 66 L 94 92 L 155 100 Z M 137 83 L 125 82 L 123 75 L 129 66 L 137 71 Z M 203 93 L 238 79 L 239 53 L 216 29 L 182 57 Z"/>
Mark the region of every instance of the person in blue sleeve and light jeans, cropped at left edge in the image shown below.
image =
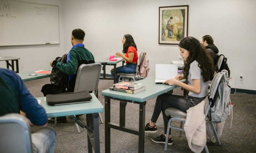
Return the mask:
<path id="1" fill-rule="evenodd" d="M 25 116 L 30 125 L 43 126 L 31 134 L 32 152 L 53 153 L 56 132 L 52 127 L 46 126 L 48 119 L 44 108 L 29 93 L 19 75 L 0 68 L 0 87 L 0 116 L 18 113 Z"/>

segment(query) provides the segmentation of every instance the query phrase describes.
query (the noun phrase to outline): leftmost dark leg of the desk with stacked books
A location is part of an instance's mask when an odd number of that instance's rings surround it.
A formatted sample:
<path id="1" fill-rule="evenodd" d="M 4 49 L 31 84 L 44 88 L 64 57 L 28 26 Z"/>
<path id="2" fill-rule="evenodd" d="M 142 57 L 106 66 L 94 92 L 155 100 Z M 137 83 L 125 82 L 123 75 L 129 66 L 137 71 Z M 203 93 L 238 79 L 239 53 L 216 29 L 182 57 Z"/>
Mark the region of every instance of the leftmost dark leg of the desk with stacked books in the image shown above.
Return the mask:
<path id="1" fill-rule="evenodd" d="M 105 152 L 110 153 L 110 98 L 105 97 Z"/>

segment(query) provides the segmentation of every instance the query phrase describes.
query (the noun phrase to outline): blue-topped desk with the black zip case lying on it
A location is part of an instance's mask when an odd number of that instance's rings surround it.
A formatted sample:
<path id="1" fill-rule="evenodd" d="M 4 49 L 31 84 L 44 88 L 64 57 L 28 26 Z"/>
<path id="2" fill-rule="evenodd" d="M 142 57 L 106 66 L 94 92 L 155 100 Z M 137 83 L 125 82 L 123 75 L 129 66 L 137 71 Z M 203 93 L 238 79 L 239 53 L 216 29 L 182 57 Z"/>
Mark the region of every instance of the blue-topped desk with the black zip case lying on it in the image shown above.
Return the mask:
<path id="1" fill-rule="evenodd" d="M 88 103 L 67 104 L 50 106 L 44 101 L 44 97 L 37 98 L 41 100 L 41 105 L 44 107 L 48 117 L 60 117 L 86 114 L 86 125 L 94 131 L 92 134 L 87 130 L 88 152 L 93 152 L 92 147 L 96 153 L 100 153 L 100 139 L 99 139 L 99 115 L 98 113 L 104 111 L 104 107 L 98 98 L 91 94 L 93 99 Z"/>

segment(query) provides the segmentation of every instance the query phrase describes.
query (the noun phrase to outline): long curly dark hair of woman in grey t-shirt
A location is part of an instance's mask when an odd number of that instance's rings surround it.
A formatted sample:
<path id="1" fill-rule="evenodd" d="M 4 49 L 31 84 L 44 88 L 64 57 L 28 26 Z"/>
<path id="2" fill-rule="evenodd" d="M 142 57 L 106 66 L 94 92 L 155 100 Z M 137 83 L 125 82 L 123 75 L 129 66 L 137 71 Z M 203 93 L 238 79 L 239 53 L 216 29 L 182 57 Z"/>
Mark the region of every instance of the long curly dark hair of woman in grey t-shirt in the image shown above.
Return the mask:
<path id="1" fill-rule="evenodd" d="M 203 81 L 207 82 L 212 80 L 214 74 L 213 60 L 200 41 L 194 37 L 186 37 L 180 41 L 179 46 L 189 52 L 187 61 L 184 61 L 184 67 L 182 68 L 184 72 L 183 78 L 187 80 L 190 64 L 197 61 L 198 67 L 201 69 Z"/>

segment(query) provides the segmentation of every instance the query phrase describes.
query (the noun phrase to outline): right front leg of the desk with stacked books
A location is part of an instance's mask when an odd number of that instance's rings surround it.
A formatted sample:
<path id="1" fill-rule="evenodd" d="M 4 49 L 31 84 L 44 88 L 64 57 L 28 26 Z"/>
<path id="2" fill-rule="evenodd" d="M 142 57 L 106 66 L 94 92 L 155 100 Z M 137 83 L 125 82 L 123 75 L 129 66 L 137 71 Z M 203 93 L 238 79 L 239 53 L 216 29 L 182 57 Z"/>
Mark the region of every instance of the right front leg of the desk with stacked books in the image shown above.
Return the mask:
<path id="1" fill-rule="evenodd" d="M 140 117 L 139 117 L 139 152 L 144 152 L 145 142 L 145 106 L 146 102 L 140 104 Z"/>

